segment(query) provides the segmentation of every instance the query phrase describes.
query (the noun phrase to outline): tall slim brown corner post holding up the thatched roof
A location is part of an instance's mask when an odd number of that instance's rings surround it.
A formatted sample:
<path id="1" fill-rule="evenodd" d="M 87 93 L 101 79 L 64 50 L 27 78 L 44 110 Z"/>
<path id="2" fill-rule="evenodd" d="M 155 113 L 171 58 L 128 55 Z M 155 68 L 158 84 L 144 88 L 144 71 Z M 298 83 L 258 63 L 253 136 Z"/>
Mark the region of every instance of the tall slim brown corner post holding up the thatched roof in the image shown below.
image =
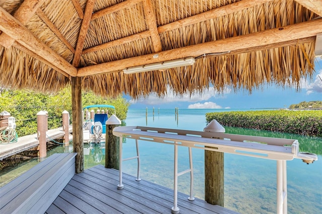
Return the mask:
<path id="1" fill-rule="evenodd" d="M 71 114 L 72 141 L 76 173 L 84 172 L 83 113 L 82 113 L 82 78 L 71 77 Z"/>

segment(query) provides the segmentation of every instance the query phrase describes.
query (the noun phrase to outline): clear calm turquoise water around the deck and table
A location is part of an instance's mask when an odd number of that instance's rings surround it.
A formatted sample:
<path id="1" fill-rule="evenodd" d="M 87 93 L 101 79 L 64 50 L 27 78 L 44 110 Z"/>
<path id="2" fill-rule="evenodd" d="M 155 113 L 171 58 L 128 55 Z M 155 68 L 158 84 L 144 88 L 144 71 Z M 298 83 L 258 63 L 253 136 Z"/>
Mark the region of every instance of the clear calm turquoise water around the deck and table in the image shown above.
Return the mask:
<path id="1" fill-rule="evenodd" d="M 127 126 L 148 126 L 170 129 L 203 131 L 206 126 L 205 113 L 233 110 L 175 110 L 130 109 Z M 304 164 L 302 160 L 287 161 L 287 188 L 289 213 L 322 213 L 322 139 L 298 135 L 226 128 L 226 133 L 256 135 L 276 138 L 297 139 L 300 150 L 318 154 L 318 161 Z M 173 188 L 174 147 L 152 142 L 139 142 L 141 157 L 141 178 Z M 70 147 L 67 150 L 72 151 Z M 63 152 L 57 147 L 53 152 Z M 123 144 L 123 158 L 135 156 L 135 140 L 126 139 Z M 103 164 L 104 148 L 85 148 L 85 168 Z M 50 155 L 50 154 L 48 154 Z M 0 182 L 3 185 L 13 176 L 21 174 L 37 163 L 36 160 L 20 164 L 12 171 L 2 170 Z M 194 196 L 204 198 L 204 151 L 193 149 Z M 123 162 L 125 173 L 136 175 L 135 160 Z M 179 147 L 179 171 L 189 168 L 188 148 Z M 189 174 L 179 177 L 179 191 L 189 194 Z M 241 213 L 276 213 L 276 161 L 240 155 L 224 155 L 224 203 L 225 207 Z"/>

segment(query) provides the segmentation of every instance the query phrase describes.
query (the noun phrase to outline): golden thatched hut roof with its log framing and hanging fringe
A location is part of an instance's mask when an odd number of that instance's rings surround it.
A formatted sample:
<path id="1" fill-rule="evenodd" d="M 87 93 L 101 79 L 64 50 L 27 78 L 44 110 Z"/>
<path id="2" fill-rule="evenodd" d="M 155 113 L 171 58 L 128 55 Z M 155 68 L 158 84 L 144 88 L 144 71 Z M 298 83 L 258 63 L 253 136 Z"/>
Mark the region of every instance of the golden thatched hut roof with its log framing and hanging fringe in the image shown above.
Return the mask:
<path id="1" fill-rule="evenodd" d="M 132 97 L 299 86 L 314 68 L 321 1 L 0 0 L 0 85 Z M 156 55 L 157 54 L 157 55 Z M 124 74 L 194 57 L 194 65 Z"/>

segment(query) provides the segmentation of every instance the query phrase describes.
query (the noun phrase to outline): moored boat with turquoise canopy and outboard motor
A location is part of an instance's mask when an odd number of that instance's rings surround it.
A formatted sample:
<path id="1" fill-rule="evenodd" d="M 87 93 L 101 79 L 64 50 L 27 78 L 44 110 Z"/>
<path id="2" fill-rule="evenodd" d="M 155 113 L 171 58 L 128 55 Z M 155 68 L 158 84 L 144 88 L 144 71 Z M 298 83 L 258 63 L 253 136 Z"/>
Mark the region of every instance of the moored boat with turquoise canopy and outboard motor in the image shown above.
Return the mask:
<path id="1" fill-rule="evenodd" d="M 90 111 L 90 109 L 93 110 Z M 97 110 L 96 113 L 94 109 Z M 113 109 L 115 115 L 115 107 L 113 105 L 96 104 L 83 108 L 83 115 L 85 114 L 83 123 L 84 143 L 89 145 L 105 143 L 106 121 L 109 117 L 108 110 L 105 111 L 104 109 Z"/>

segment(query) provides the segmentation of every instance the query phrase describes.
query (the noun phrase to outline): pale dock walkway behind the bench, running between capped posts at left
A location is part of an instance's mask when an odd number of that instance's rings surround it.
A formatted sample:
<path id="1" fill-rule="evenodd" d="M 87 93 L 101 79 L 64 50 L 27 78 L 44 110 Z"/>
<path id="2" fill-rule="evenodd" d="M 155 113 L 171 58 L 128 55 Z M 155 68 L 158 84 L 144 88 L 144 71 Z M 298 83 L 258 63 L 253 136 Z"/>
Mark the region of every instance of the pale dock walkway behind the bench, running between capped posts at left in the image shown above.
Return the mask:
<path id="1" fill-rule="evenodd" d="M 72 132 L 72 126 L 69 126 L 69 133 Z M 57 129 L 51 129 L 46 132 L 46 141 L 50 141 L 52 139 L 57 139 L 65 135 L 62 131 L 62 127 Z M 18 138 L 17 143 L 10 144 L 0 144 L 0 160 L 7 158 L 9 156 L 18 154 L 25 150 L 31 149 L 39 145 L 39 141 L 37 140 L 37 134 L 27 135 Z"/>

